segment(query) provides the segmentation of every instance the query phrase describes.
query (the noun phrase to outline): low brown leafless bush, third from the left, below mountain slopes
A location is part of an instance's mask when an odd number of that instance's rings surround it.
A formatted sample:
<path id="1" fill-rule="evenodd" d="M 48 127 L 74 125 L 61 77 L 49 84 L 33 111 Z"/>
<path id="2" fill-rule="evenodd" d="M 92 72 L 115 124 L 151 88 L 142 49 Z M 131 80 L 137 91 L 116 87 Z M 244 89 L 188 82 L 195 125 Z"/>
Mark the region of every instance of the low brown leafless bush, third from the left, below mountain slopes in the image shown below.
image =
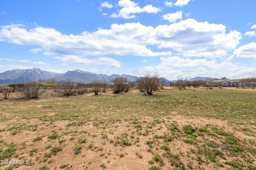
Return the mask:
<path id="1" fill-rule="evenodd" d="M 77 92 L 77 84 L 73 82 L 58 83 L 56 86 L 56 90 L 59 94 L 62 94 L 63 96 L 73 96 Z"/>

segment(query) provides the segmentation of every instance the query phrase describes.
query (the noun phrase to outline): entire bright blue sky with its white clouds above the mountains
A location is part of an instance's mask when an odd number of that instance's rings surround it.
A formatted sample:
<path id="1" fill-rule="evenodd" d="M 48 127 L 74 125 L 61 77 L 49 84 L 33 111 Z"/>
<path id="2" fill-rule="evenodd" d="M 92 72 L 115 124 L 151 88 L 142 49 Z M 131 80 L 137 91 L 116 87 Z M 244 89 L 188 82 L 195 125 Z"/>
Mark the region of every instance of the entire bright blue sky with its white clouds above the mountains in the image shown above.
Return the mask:
<path id="1" fill-rule="evenodd" d="M 0 1 L 0 72 L 256 75 L 256 1 Z"/>

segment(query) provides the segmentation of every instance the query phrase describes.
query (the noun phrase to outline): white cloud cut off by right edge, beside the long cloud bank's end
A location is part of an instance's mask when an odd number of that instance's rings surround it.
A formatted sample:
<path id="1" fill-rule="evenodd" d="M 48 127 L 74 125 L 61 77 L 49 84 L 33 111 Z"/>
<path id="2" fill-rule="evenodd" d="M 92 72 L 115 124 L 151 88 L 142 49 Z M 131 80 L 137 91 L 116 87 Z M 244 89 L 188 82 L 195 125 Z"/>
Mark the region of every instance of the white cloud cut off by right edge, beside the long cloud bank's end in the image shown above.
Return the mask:
<path id="1" fill-rule="evenodd" d="M 256 43 L 249 43 L 235 49 L 234 55 L 244 58 L 256 58 Z"/>

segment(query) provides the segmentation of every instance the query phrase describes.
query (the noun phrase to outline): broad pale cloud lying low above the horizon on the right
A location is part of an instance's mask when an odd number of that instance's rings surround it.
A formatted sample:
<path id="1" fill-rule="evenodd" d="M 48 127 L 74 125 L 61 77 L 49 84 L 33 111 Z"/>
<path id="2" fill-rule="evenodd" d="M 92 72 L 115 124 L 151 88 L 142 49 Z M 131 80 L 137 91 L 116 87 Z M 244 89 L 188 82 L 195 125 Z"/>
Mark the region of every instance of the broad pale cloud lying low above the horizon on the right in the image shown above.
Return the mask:
<path id="1" fill-rule="evenodd" d="M 139 70 L 139 74 L 145 72 L 158 74 L 160 77 L 173 80 L 179 77 L 250 77 L 255 74 L 256 68 L 238 66 L 230 61 L 191 59 L 180 56 L 161 57 L 161 62 L 155 66 L 147 66 Z"/>

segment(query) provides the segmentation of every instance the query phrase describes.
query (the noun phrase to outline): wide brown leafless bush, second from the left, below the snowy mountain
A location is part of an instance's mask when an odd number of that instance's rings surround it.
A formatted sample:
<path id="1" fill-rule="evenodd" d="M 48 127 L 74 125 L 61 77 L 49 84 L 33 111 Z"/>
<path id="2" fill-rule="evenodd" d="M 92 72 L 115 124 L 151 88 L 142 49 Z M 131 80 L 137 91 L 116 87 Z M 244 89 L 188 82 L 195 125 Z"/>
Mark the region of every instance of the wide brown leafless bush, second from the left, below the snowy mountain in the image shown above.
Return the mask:
<path id="1" fill-rule="evenodd" d="M 44 91 L 45 90 L 41 87 L 41 81 L 24 83 L 21 88 L 21 93 L 28 99 L 38 98 Z"/>

